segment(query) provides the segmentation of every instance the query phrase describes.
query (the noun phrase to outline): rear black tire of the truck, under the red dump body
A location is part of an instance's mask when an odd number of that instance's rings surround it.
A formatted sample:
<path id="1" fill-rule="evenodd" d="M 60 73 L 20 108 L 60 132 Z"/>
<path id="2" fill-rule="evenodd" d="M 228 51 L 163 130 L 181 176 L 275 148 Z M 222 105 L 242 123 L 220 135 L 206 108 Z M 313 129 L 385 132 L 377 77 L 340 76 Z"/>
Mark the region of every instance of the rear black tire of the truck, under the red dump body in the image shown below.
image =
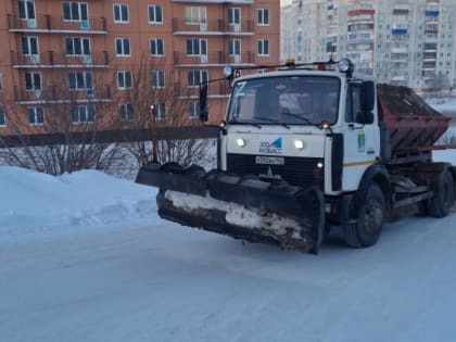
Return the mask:
<path id="1" fill-rule="evenodd" d="M 432 180 L 434 197 L 429 201 L 429 215 L 445 217 L 455 202 L 455 180 L 449 169 L 444 169 Z"/>

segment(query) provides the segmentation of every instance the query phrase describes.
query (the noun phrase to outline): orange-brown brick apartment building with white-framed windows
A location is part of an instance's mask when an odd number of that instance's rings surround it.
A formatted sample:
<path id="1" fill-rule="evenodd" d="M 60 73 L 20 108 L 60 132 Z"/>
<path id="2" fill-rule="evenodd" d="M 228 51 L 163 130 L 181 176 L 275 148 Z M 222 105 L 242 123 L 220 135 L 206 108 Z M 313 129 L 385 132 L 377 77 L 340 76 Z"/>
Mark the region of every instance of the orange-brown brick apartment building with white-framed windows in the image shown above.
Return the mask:
<path id="1" fill-rule="evenodd" d="M 226 64 L 279 62 L 279 13 L 277 0 L 3 0 L 0 135 L 17 125 L 52 132 L 62 112 L 74 127 L 115 119 L 128 127 L 134 104 L 124 94 L 143 91 L 138 78 L 186 89 L 180 115 L 197 118 L 200 81 L 221 78 Z M 226 100 L 226 85 L 211 84 L 212 122 Z M 165 121 L 169 105 L 157 104 Z"/>

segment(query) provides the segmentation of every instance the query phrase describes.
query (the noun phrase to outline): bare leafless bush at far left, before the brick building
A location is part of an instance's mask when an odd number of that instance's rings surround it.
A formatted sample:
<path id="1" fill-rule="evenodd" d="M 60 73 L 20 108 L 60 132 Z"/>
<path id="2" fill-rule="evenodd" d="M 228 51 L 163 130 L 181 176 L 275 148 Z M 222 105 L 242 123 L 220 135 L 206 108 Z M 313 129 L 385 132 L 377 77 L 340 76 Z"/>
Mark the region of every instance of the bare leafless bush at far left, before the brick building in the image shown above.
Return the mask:
<path id="1" fill-rule="evenodd" d="M 0 136 L 0 148 L 8 164 L 61 175 L 105 169 L 116 157 L 115 144 L 99 139 L 101 130 L 114 127 L 105 115 L 112 105 L 109 87 L 92 79 L 85 89 L 71 89 L 68 75 L 62 71 L 49 74 L 46 87 L 22 94 L 34 98 L 27 105 L 2 94 L 11 135 Z"/>

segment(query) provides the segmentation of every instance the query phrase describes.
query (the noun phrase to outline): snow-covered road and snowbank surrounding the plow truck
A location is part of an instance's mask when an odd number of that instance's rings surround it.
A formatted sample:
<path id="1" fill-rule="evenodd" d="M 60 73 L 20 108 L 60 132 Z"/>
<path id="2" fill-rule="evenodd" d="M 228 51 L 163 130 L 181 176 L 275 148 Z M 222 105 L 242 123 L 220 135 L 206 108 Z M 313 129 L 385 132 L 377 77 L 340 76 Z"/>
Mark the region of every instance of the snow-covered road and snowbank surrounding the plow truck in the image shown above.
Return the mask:
<path id="1" fill-rule="evenodd" d="M 311 255 L 164 221 L 99 172 L 2 166 L 0 189 L 1 342 L 455 341 L 456 213 Z"/>

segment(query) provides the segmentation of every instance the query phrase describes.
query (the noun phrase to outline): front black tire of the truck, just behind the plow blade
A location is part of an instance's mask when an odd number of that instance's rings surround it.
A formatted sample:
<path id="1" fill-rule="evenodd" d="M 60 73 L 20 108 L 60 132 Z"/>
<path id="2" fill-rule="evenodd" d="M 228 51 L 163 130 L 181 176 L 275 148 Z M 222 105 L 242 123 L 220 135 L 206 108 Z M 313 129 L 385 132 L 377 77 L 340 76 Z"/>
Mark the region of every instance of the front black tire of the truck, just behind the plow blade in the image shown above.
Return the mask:
<path id="1" fill-rule="evenodd" d="M 385 218 L 385 201 L 381 188 L 371 183 L 359 201 L 359 214 L 356 221 L 343 227 L 347 245 L 368 248 L 378 241 Z"/>

